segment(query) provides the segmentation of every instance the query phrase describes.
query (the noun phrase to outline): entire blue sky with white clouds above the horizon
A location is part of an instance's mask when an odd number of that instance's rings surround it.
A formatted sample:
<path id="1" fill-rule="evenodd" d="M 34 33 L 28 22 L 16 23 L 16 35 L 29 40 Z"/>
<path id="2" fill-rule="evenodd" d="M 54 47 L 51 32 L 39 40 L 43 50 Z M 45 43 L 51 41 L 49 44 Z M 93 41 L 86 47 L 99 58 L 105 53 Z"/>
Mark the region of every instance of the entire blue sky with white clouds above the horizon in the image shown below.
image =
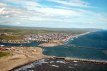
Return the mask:
<path id="1" fill-rule="evenodd" d="M 107 0 L 0 0 L 0 25 L 107 29 Z"/>

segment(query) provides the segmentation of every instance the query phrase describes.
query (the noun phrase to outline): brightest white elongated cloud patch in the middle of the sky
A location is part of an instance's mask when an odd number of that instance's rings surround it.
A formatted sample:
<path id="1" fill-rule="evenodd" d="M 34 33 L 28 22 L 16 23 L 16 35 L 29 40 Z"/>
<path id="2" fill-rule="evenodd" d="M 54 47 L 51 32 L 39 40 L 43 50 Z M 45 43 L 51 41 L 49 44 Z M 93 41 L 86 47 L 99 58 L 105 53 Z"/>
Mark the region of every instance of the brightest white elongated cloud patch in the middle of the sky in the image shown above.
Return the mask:
<path id="1" fill-rule="evenodd" d="M 64 16 L 69 17 L 69 16 L 79 16 L 80 13 L 74 10 L 66 10 L 66 9 L 57 9 L 57 8 L 36 8 L 36 10 L 44 15 L 47 16 Z"/>

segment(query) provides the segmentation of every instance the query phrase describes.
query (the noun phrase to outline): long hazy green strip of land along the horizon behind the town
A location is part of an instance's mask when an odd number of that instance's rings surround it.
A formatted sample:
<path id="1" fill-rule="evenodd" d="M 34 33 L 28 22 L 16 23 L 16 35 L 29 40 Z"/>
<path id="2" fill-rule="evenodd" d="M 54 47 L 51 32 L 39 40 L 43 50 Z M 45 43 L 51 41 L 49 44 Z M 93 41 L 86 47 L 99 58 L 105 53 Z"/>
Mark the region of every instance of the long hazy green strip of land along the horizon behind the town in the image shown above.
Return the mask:
<path id="1" fill-rule="evenodd" d="M 37 34 L 37 33 L 53 33 L 53 32 L 67 32 L 67 33 L 84 33 L 88 31 L 95 31 L 96 29 L 79 29 L 79 28 L 20 28 L 20 27 L 11 27 L 11 28 L 0 28 L 0 32 L 12 33 L 17 35 L 25 34 Z"/>

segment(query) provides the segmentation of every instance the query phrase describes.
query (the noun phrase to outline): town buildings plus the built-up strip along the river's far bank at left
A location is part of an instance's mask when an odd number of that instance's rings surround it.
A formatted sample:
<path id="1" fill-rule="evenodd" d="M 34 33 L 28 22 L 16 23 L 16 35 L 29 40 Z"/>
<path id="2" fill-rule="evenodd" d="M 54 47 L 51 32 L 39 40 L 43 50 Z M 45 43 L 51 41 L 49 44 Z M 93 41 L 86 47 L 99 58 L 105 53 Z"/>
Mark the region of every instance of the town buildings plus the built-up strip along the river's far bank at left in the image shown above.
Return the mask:
<path id="1" fill-rule="evenodd" d="M 0 35 L 8 35 L 7 33 L 0 33 Z M 11 36 L 11 35 L 10 35 Z M 6 40 L 0 39 L 3 43 L 29 43 L 30 41 L 66 41 L 70 37 L 75 36 L 71 33 L 39 33 L 39 34 L 25 34 L 23 39 Z"/>

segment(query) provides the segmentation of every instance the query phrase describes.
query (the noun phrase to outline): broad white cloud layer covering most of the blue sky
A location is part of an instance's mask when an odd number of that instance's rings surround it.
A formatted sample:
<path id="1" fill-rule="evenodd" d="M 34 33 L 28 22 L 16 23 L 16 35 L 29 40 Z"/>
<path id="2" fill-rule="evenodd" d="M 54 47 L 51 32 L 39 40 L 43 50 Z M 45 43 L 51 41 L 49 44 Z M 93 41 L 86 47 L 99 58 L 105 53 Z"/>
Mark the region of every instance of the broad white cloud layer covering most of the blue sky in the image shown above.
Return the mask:
<path id="1" fill-rule="evenodd" d="M 83 0 L 47 0 L 57 3 L 44 6 L 38 0 L 5 0 L 0 3 L 0 24 L 99 24 L 107 23 L 107 14 L 78 7 L 91 7 Z M 58 7 L 59 6 L 59 7 Z M 76 8 L 74 8 L 76 7 Z"/>

